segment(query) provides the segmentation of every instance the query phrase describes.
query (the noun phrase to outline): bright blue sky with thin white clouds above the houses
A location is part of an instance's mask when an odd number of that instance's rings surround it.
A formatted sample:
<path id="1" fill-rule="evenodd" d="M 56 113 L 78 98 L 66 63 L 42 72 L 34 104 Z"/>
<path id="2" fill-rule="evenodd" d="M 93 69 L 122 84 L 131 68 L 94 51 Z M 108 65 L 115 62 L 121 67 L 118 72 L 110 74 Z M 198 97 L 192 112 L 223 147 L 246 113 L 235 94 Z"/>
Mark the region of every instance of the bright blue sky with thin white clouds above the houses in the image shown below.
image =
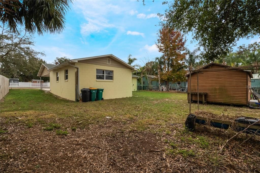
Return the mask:
<path id="1" fill-rule="evenodd" d="M 61 34 L 35 34 L 35 49 L 44 51 L 48 63 L 56 57 L 70 59 L 113 54 L 127 61 L 129 54 L 135 64 L 160 56 L 155 46 L 160 22 L 157 13 L 164 13 L 162 1 L 74 1 L 66 16 L 66 28 Z M 186 36 L 186 46 L 191 37 Z M 260 41 L 259 37 L 241 39 L 238 45 Z"/>

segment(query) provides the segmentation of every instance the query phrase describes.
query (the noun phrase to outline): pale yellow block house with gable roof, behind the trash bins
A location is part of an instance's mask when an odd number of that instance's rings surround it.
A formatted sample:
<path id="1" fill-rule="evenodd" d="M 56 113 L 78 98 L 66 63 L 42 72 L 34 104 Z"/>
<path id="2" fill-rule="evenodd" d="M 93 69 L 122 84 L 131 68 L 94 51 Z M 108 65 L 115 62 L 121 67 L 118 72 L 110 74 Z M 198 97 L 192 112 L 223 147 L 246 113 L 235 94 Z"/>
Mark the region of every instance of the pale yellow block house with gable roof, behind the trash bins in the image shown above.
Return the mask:
<path id="1" fill-rule="evenodd" d="M 42 64 L 39 77 L 50 77 L 50 92 L 78 101 L 82 88 L 103 88 L 103 98 L 131 97 L 136 69 L 110 55 L 71 59 L 59 65 Z"/>

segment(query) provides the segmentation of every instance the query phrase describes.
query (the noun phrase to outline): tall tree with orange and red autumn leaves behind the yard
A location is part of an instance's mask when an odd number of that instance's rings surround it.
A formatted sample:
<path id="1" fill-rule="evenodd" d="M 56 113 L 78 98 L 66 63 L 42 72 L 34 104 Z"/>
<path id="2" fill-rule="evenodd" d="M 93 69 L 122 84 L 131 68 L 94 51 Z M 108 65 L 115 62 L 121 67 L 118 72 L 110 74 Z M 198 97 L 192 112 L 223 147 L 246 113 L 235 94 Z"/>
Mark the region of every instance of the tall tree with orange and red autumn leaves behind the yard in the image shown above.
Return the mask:
<path id="1" fill-rule="evenodd" d="M 167 91 L 169 82 L 177 82 L 185 79 L 185 43 L 184 36 L 179 31 L 169 28 L 161 28 L 158 33 L 158 43 L 156 44 L 162 56 L 161 79 L 167 81 Z"/>

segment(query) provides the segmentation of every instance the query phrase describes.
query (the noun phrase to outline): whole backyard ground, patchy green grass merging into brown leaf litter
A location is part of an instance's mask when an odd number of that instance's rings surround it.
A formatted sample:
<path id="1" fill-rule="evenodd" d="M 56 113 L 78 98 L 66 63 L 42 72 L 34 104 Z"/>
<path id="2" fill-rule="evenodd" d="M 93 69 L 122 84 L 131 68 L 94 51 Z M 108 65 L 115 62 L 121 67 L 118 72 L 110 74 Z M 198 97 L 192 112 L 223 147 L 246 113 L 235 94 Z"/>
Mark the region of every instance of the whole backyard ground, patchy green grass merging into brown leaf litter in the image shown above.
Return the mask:
<path id="1" fill-rule="evenodd" d="M 208 104 L 200 110 L 260 118 L 259 110 L 246 107 Z M 1 102 L 1 170 L 259 172 L 259 137 L 242 143 L 250 136 L 241 134 L 220 153 L 235 132 L 202 125 L 189 132 L 188 114 L 183 93 L 136 91 L 129 98 L 79 103 L 11 89 Z"/>

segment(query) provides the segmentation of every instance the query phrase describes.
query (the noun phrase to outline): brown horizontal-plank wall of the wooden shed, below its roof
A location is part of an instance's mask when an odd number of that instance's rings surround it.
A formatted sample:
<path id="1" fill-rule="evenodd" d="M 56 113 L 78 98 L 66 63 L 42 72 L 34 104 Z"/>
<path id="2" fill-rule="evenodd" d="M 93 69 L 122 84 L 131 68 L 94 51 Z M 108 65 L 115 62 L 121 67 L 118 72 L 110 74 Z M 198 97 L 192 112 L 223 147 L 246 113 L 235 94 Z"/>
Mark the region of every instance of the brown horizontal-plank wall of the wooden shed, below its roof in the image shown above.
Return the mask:
<path id="1" fill-rule="evenodd" d="M 207 102 L 247 105 L 248 76 L 239 70 L 203 71 L 199 74 L 199 92 L 207 93 Z M 191 74 L 191 92 L 197 92 L 197 73 Z M 193 96 L 193 100 L 197 97 Z"/>

